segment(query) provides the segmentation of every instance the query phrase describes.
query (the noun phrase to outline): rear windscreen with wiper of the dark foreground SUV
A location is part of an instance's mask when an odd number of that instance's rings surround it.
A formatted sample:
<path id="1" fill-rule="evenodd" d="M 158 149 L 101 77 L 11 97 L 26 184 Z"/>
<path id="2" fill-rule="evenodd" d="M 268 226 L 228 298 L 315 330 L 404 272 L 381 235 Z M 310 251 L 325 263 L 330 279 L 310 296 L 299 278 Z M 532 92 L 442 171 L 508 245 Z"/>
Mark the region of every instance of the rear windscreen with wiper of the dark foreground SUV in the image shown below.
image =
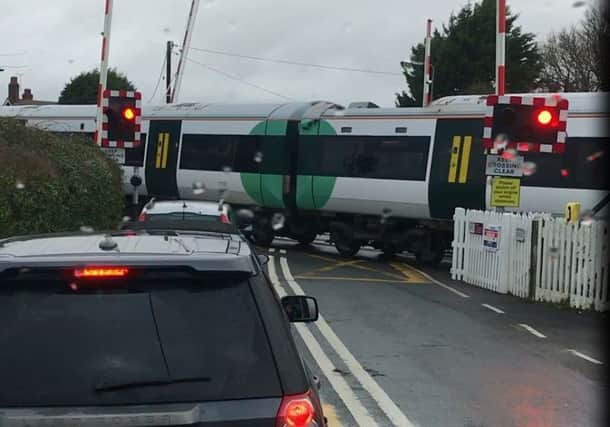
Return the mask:
<path id="1" fill-rule="evenodd" d="M 247 277 L 0 277 L 0 407 L 273 396 Z"/>

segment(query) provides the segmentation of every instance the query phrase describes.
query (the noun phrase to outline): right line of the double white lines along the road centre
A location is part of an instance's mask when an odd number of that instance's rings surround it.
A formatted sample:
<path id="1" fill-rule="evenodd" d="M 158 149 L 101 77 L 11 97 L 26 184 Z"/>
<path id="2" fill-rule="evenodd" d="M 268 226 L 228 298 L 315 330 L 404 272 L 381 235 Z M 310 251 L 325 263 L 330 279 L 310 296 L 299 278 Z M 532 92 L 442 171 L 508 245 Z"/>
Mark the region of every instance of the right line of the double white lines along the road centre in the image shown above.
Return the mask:
<path id="1" fill-rule="evenodd" d="M 280 258 L 280 265 L 282 272 L 286 278 L 288 286 L 296 295 L 304 295 L 303 289 L 294 280 L 290 268 L 288 267 L 288 261 L 285 257 Z M 362 387 L 368 391 L 370 396 L 377 402 L 379 408 L 386 414 L 386 416 L 392 421 L 395 426 L 401 427 L 414 427 L 414 424 L 409 421 L 407 416 L 400 410 L 398 406 L 390 399 L 387 393 L 377 384 L 377 382 L 364 370 L 360 362 L 356 360 L 354 355 L 350 353 L 345 344 L 339 339 L 337 334 L 331 329 L 326 320 L 322 315 L 315 322 L 324 338 L 337 352 L 339 357 L 347 365 L 348 369 L 352 372 L 354 377 L 360 382 Z"/>

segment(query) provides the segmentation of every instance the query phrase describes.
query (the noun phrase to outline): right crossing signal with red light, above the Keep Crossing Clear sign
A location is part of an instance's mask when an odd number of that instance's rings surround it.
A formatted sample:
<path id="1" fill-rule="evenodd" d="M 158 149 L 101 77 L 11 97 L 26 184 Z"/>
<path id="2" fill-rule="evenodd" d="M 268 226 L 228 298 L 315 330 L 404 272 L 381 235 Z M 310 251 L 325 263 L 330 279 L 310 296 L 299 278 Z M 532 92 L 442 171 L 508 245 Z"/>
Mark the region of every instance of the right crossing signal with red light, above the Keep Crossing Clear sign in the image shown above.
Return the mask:
<path id="1" fill-rule="evenodd" d="M 484 148 L 541 153 L 563 153 L 566 142 L 568 101 L 557 97 L 497 96 L 487 98 Z"/>

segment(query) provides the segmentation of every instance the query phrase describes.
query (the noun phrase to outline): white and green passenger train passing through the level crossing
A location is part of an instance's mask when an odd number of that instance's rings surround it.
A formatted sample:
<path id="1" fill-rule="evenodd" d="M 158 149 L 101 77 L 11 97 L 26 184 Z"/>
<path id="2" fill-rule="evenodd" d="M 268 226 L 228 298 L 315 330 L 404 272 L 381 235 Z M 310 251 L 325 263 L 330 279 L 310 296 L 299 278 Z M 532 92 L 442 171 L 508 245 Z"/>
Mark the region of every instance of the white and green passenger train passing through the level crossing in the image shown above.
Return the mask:
<path id="1" fill-rule="evenodd" d="M 569 101 L 565 152 L 518 153 L 535 171 L 521 177 L 519 206 L 506 211 L 563 215 L 568 202 L 586 212 L 607 198 L 607 95 L 561 94 Z M 222 200 L 252 212 L 247 227 L 259 245 L 329 233 L 344 256 L 369 245 L 436 263 L 450 248 L 456 207 L 492 208 L 481 144 L 486 99 L 445 97 L 422 108 L 144 105 L 144 143 L 104 150 L 121 164 L 126 196 Z M 28 126 L 91 136 L 95 113 L 94 105 L 0 107 L 0 117 Z"/>

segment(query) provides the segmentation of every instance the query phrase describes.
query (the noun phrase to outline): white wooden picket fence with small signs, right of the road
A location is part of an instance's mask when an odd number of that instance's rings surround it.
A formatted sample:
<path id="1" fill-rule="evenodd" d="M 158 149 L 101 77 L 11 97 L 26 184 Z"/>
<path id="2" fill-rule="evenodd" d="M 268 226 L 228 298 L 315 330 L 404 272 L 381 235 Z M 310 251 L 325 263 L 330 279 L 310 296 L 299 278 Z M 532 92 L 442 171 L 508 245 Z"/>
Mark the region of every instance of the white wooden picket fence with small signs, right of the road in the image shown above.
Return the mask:
<path id="1" fill-rule="evenodd" d="M 453 219 L 454 280 L 537 301 L 606 310 L 608 227 L 604 221 L 569 224 L 547 214 L 462 208 L 455 210 Z M 486 233 L 497 233 L 497 238 Z"/>

